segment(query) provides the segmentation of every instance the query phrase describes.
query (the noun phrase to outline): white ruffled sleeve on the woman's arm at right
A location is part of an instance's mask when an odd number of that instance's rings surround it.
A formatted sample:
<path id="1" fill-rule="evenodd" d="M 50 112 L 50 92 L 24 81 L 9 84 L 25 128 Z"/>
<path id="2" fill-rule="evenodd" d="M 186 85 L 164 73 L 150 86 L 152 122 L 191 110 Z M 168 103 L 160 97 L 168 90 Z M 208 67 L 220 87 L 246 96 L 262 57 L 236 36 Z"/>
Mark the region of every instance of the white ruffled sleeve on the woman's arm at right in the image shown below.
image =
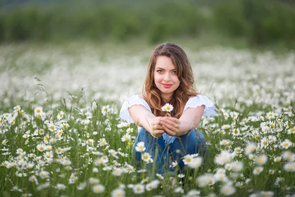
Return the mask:
<path id="1" fill-rule="evenodd" d="M 216 114 L 214 104 L 211 102 L 211 100 L 209 100 L 206 96 L 203 96 L 203 95 L 198 95 L 196 97 L 192 97 L 188 99 L 188 101 L 186 102 L 186 105 L 184 106 L 183 111 L 186 110 L 187 107 L 196 108 L 201 105 L 205 105 L 205 111 L 203 115 L 214 116 Z"/>

